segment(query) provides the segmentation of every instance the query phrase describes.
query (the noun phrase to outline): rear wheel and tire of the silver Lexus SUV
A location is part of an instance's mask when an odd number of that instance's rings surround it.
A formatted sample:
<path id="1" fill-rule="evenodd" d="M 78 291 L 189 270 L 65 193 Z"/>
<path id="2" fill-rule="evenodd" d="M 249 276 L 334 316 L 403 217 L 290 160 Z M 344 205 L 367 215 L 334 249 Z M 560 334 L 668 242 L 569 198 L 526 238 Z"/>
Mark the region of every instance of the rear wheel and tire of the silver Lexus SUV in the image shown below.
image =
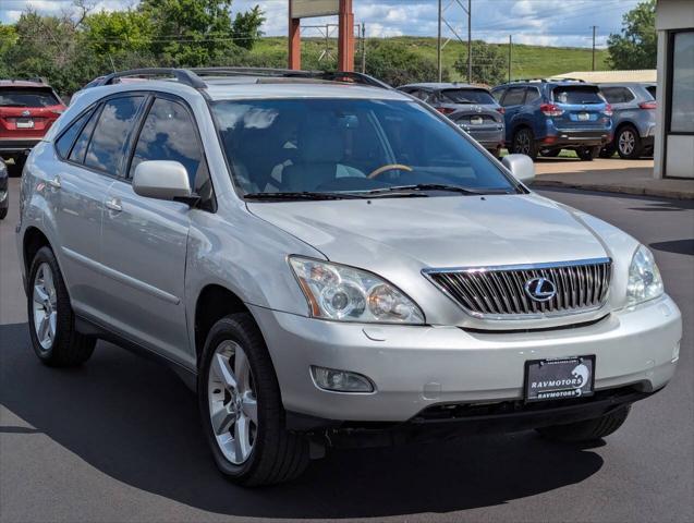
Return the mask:
<path id="1" fill-rule="evenodd" d="M 34 256 L 28 281 L 27 313 L 34 352 L 50 367 L 82 365 L 94 353 L 96 339 L 75 329 L 68 289 L 49 247 L 41 247 Z"/>

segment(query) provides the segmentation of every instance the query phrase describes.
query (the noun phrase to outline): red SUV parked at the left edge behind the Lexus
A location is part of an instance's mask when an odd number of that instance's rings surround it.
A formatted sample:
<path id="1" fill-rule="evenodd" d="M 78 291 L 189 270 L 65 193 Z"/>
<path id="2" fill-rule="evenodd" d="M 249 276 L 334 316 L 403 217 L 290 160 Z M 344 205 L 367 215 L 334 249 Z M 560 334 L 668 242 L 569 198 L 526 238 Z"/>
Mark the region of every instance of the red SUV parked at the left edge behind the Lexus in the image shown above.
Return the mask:
<path id="1" fill-rule="evenodd" d="M 22 172 L 26 155 L 65 110 L 44 81 L 0 80 L 0 157 Z"/>

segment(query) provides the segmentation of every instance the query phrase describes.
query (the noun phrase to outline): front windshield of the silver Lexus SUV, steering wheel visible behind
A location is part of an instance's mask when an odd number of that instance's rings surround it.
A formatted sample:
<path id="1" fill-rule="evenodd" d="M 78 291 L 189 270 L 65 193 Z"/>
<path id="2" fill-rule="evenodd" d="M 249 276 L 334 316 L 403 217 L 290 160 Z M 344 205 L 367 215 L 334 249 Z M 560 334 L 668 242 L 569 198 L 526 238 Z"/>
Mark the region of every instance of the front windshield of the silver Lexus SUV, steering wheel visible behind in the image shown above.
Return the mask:
<path id="1" fill-rule="evenodd" d="M 235 185 L 246 196 L 522 191 L 452 124 L 415 101 L 272 99 L 211 108 Z"/>

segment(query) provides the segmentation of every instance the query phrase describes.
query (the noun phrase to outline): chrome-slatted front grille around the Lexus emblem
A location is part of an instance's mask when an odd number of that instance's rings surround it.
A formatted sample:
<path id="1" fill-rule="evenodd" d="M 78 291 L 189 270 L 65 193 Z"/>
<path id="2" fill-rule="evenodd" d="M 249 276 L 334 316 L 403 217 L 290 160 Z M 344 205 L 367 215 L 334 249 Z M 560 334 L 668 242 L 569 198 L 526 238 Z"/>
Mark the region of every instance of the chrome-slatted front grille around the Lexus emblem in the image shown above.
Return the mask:
<path id="1" fill-rule="evenodd" d="M 424 275 L 468 313 L 479 317 L 543 316 L 599 308 L 610 287 L 609 258 L 557 264 L 426 269 Z M 536 301 L 526 283 L 545 278 L 556 294 Z"/>

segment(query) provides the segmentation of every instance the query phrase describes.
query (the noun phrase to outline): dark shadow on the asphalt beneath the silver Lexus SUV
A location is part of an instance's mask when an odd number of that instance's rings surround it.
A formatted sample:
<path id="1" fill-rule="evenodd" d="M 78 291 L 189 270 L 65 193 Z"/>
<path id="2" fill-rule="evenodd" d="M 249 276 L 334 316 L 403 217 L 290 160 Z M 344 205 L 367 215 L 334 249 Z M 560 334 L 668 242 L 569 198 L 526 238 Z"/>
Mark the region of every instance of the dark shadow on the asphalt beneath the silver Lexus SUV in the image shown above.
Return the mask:
<path id="1" fill-rule="evenodd" d="M 242 489 L 215 469 L 195 398 L 169 370 L 106 343 L 80 369 L 50 369 L 34 356 L 25 324 L 0 326 L 0 398 L 10 411 L 119 482 L 217 513 L 321 519 L 449 512 L 555 490 L 602 465 L 589 449 L 519 433 L 333 451 L 293 484 Z"/>

